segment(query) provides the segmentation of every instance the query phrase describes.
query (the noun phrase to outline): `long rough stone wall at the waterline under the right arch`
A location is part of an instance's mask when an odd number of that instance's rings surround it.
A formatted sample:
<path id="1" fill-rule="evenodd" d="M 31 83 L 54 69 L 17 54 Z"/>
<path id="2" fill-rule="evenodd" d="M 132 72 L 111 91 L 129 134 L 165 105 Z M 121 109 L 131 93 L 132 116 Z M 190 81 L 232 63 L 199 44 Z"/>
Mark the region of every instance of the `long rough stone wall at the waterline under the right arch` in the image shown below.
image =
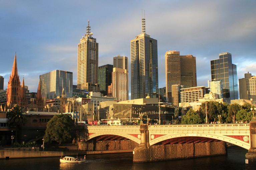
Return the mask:
<path id="1" fill-rule="evenodd" d="M 134 149 L 133 160 L 134 162 L 155 162 L 225 155 L 226 153 L 226 143 L 222 141 L 195 144 L 153 145 L 149 147 L 136 147 Z"/>

